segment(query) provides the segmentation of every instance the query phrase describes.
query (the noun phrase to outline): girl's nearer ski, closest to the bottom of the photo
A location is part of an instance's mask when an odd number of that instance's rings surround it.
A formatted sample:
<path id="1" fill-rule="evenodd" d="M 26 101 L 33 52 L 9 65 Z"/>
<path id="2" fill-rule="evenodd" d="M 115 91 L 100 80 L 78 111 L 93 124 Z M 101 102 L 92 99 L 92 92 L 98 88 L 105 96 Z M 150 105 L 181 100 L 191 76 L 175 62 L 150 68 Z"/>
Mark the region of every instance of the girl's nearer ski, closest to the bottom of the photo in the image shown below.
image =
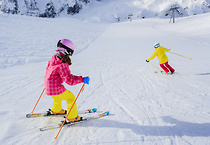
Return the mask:
<path id="1" fill-rule="evenodd" d="M 106 112 L 103 112 L 103 113 L 100 113 L 100 114 L 96 114 L 96 115 L 91 116 L 91 117 L 83 117 L 83 119 L 81 121 L 69 122 L 69 123 L 65 122 L 64 126 L 72 126 L 72 125 L 75 125 L 75 124 L 78 124 L 78 123 L 82 123 L 84 121 L 99 119 L 99 118 L 105 117 L 107 115 L 109 115 L 109 111 L 106 111 Z M 49 125 L 49 126 L 45 126 L 45 127 L 39 128 L 39 130 L 40 131 L 47 131 L 47 130 L 60 128 L 62 126 L 62 124 L 63 124 L 63 121 L 61 121 L 61 123 L 59 123 L 59 124 Z"/>

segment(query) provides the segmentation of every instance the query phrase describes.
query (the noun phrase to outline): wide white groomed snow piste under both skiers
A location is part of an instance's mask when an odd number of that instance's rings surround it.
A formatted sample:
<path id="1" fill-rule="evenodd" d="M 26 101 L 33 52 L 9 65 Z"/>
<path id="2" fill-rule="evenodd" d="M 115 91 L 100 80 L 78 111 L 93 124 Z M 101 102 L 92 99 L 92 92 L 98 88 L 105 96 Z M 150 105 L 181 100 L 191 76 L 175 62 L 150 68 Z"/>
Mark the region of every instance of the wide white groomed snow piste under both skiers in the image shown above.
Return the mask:
<path id="1" fill-rule="evenodd" d="M 104 23 L 60 17 L 0 14 L 1 145 L 209 145 L 210 14 Z M 101 119 L 45 132 L 62 117 L 26 118 L 43 88 L 45 68 L 59 39 L 76 45 L 70 70 L 89 76 L 78 110 L 110 111 Z M 162 46 L 176 73 L 146 63 Z M 159 67 L 157 57 L 150 61 Z M 160 67 L 159 67 L 160 68 Z M 68 86 L 75 96 L 82 84 Z M 51 108 L 43 95 L 34 113 Z M 63 108 L 66 103 L 63 102 Z"/>

